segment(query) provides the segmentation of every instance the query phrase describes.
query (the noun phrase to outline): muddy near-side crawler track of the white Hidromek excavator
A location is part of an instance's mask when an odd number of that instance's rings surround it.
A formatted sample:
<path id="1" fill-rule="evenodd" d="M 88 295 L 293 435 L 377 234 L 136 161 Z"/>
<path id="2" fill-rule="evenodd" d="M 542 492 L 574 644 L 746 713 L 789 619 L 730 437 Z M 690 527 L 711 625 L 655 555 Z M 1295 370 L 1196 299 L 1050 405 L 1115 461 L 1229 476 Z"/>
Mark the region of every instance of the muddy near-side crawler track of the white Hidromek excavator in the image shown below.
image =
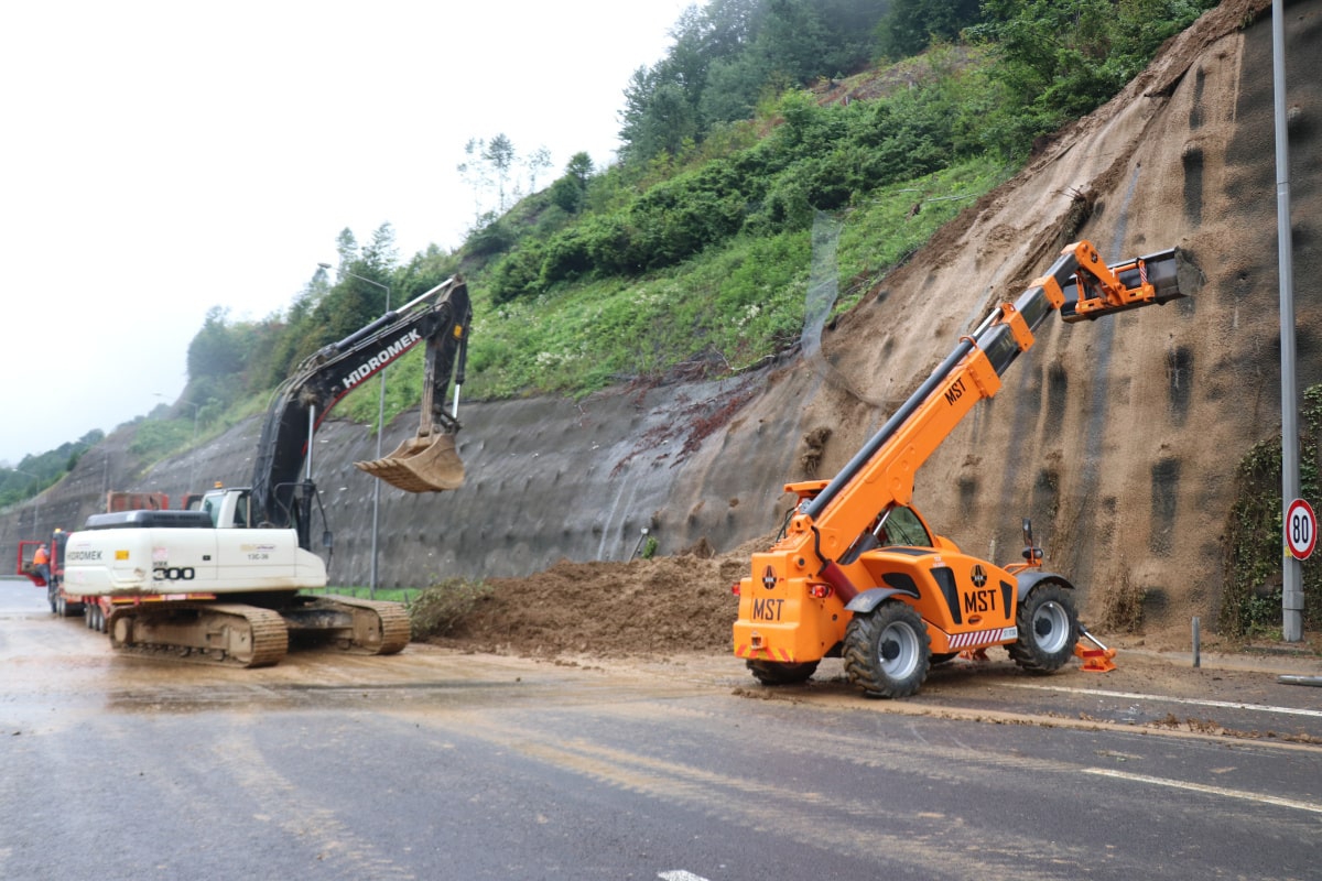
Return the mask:
<path id="1" fill-rule="evenodd" d="M 123 654 L 233 667 L 270 667 L 290 645 L 279 613 L 241 604 L 122 606 L 106 629 L 111 646 Z"/>

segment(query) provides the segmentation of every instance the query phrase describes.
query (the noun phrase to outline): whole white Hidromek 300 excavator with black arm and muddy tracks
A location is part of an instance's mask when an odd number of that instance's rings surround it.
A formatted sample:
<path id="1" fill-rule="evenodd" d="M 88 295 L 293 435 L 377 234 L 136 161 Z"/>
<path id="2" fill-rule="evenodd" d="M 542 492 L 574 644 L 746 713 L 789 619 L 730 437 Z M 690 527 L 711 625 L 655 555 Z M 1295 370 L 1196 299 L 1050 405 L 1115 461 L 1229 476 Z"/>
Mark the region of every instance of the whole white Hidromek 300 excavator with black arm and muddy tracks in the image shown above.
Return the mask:
<path id="1" fill-rule="evenodd" d="M 424 342 L 416 435 L 379 460 L 354 464 L 410 493 L 461 486 L 455 435 L 471 320 L 467 284 L 453 276 L 307 358 L 272 396 L 251 486 L 218 486 L 194 510 L 94 514 L 62 536 L 56 580 L 66 606 L 91 604 L 90 625 L 128 654 L 263 667 L 278 663 L 291 641 L 401 651 L 410 638 L 401 604 L 301 593 L 328 581 L 312 549 L 315 506 L 325 522 L 312 439 L 340 399 Z M 329 531 L 320 540 L 329 552 Z"/>

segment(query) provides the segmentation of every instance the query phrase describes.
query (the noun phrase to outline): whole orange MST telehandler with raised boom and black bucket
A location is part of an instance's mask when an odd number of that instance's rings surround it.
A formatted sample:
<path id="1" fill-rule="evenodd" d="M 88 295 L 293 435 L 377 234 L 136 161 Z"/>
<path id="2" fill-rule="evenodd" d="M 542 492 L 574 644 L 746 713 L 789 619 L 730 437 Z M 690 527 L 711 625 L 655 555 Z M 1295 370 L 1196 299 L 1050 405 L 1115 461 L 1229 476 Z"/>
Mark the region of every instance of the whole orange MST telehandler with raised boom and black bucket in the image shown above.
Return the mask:
<path id="1" fill-rule="evenodd" d="M 998 567 L 937 535 L 912 506 L 914 473 L 1001 375 L 1034 343 L 1052 312 L 1067 322 L 1187 296 L 1178 248 L 1117 264 L 1087 240 L 1066 247 L 1046 275 L 1002 302 L 890 416 L 830 481 L 787 483 L 796 497 L 775 544 L 752 555 L 735 585 L 734 652 L 769 686 L 808 680 L 822 658 L 842 658 L 849 682 L 874 697 L 919 691 L 932 664 L 1005 646 L 1025 671 L 1048 674 L 1080 637 L 1075 586 L 1043 569 L 1023 522 L 1023 561 Z M 1186 287 L 1191 287 L 1186 283 Z"/>

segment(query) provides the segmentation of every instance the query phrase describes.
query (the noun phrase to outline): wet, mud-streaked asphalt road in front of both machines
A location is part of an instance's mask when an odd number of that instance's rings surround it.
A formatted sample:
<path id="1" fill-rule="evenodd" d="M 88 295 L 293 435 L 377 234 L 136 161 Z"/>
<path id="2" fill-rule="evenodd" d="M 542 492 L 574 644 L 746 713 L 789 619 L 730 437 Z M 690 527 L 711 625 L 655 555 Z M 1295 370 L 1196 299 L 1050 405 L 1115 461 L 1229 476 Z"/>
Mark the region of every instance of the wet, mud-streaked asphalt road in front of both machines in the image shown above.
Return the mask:
<path id="1" fill-rule="evenodd" d="M 758 700 L 767 691 L 723 658 L 555 664 L 414 646 L 239 671 L 115 656 L 41 600 L 0 581 L 3 878 L 1311 878 L 1322 865 L 1322 748 L 1136 725 L 1171 711 L 1091 693 L 1105 680 L 1077 672 L 937 671 L 916 700 L 869 701 L 829 671 Z M 1276 709 L 1306 730 L 1319 692 Z M 1253 708 L 1198 712 L 1280 726 Z"/>

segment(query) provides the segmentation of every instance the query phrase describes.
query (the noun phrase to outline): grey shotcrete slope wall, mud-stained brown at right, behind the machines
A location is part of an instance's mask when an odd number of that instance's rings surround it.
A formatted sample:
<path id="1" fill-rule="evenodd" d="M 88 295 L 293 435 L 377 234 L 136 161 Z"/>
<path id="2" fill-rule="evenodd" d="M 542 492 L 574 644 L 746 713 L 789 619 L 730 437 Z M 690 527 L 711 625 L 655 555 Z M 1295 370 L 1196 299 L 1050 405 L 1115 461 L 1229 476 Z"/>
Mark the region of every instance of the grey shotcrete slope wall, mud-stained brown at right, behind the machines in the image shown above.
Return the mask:
<path id="1" fill-rule="evenodd" d="M 1178 246 L 1200 267 L 1202 287 L 1182 280 L 1188 299 L 1097 322 L 1050 318 L 999 395 L 917 472 L 915 503 L 966 551 L 1001 563 L 1018 559 L 1021 518 L 1030 516 L 1047 567 L 1080 586 L 1085 621 L 1129 584 L 1144 592 L 1149 639 L 1169 633 L 1187 643 L 1191 616 L 1215 619 L 1235 468 L 1280 431 L 1270 20 L 1255 20 L 1268 5 L 1223 4 L 1167 44 L 1120 96 L 1060 132 L 820 339 L 810 334 L 808 357 L 720 382 L 465 407 L 463 487 L 382 487 L 382 585 L 512 579 L 502 602 L 513 608 L 545 605 L 545 590 L 534 590 L 555 584 L 558 609 L 619 631 L 657 606 L 677 621 L 710 616 L 685 598 L 691 590 L 666 586 L 678 567 L 693 590 L 723 594 L 732 621 L 738 576 L 728 569 L 738 565 L 681 560 L 650 580 L 640 565 L 539 573 L 562 559 L 627 560 L 644 528 L 661 555 L 697 547 L 747 561 L 789 506 L 787 481 L 809 477 L 813 462 L 816 476 L 833 476 L 960 334 L 1087 238 L 1108 260 Z M 1322 380 L 1311 221 L 1322 217 L 1319 30 L 1322 0 L 1289 4 L 1301 387 Z M 416 413 L 405 413 L 385 444 L 415 424 Z M 145 476 L 114 473 L 119 458 L 89 454 L 67 482 L 83 495 L 48 494 L 42 520 L 49 512 L 74 523 L 70 514 L 82 506 L 86 516 L 107 485 L 176 495 L 193 479 L 246 483 L 255 442 L 251 424 L 241 425 L 196 460 Z M 315 444 L 336 584 L 368 581 L 371 478 L 352 462 L 374 448 L 346 423 L 325 425 Z M 8 515 L 5 540 L 20 527 L 26 538 L 30 522 L 28 509 Z M 607 613 L 604 596 L 629 602 Z"/>

